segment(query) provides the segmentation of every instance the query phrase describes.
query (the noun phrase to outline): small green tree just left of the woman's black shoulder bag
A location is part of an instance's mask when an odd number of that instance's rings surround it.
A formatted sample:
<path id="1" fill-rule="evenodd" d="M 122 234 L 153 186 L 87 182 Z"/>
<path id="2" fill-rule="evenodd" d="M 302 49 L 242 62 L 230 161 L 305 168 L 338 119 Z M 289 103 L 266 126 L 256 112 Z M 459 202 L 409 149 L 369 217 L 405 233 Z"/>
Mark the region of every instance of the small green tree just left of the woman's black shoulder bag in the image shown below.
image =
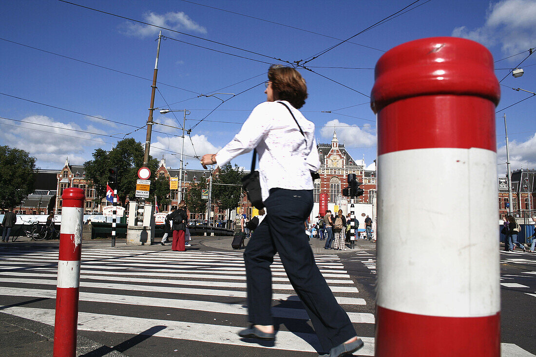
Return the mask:
<path id="1" fill-rule="evenodd" d="M 235 209 L 240 204 L 240 193 L 244 176 L 243 171 L 235 164 L 234 168 L 227 163 L 220 168 L 218 176 L 213 178 L 213 183 L 239 186 L 212 185 L 212 198 L 218 202 L 221 209 Z"/>

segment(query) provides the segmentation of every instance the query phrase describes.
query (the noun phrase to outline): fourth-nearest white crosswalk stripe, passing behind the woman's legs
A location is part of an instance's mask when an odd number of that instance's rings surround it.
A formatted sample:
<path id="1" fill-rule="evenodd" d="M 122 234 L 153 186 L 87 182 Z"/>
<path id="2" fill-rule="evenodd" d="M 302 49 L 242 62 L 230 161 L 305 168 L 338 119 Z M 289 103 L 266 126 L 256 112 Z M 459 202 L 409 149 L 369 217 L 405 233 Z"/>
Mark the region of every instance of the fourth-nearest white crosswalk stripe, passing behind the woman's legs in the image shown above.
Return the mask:
<path id="1" fill-rule="evenodd" d="M 11 272 L 10 276 L 23 276 L 23 277 L 55 277 L 54 274 L 39 274 L 36 276 L 30 272 Z M 0 277 L 5 276 L 0 272 Z M 93 280 L 106 280 L 108 282 L 131 282 L 131 283 L 152 283 L 152 284 L 167 284 L 167 285 L 198 285 L 198 286 L 217 286 L 217 287 L 236 287 L 246 288 L 246 283 L 234 283 L 234 282 L 218 282 L 210 280 L 178 280 L 178 279 L 143 279 L 143 278 L 131 278 L 131 277 L 109 277 L 109 276 L 81 276 L 81 279 L 93 279 Z M 0 278 L 0 280 L 2 280 Z M 72 286 L 58 286 L 58 287 L 72 287 Z M 78 287 L 78 286 L 74 286 Z M 331 291 L 334 293 L 359 293 L 358 288 L 355 286 L 330 286 Z M 272 284 L 273 290 L 292 290 L 294 288 L 291 284 Z"/>

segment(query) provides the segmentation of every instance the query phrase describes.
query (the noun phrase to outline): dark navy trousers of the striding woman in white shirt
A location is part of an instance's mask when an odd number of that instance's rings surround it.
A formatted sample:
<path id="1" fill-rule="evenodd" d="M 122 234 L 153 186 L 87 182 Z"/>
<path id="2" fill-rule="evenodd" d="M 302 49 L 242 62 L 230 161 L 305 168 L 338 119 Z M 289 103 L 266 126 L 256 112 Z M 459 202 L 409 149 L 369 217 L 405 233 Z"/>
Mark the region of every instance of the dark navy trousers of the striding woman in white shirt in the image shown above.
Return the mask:
<path id="1" fill-rule="evenodd" d="M 264 202 L 267 215 L 245 248 L 249 321 L 272 325 L 272 272 L 279 253 L 288 279 L 300 297 L 322 347 L 329 351 L 356 336 L 315 263 L 303 222 L 312 209 L 312 191 L 275 188 Z"/>

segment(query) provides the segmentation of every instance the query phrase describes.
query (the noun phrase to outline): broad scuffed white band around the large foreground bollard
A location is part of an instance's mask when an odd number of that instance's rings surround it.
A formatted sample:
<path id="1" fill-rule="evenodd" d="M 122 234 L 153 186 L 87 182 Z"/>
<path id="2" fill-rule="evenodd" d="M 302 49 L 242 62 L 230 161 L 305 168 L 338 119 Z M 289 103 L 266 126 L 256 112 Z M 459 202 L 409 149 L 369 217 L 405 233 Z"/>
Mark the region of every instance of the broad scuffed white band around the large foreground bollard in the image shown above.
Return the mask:
<path id="1" fill-rule="evenodd" d="M 408 162 L 426 164 L 415 168 Z M 491 174 L 496 164 L 493 151 L 479 148 L 381 155 L 378 306 L 445 317 L 489 316 L 500 310 L 497 179 Z M 434 185 L 421 185 L 420 178 Z M 419 216 L 418 230 L 405 224 L 408 212 Z"/>

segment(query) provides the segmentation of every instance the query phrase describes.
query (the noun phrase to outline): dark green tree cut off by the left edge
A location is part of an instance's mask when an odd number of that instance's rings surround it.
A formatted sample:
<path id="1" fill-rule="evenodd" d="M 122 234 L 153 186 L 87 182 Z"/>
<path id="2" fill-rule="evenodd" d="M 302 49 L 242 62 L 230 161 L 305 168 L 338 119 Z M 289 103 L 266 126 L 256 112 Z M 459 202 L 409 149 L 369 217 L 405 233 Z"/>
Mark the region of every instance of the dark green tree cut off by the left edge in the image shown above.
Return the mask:
<path id="1" fill-rule="evenodd" d="M 19 206 L 34 192 L 35 161 L 25 150 L 0 146 L 0 207 Z"/>

